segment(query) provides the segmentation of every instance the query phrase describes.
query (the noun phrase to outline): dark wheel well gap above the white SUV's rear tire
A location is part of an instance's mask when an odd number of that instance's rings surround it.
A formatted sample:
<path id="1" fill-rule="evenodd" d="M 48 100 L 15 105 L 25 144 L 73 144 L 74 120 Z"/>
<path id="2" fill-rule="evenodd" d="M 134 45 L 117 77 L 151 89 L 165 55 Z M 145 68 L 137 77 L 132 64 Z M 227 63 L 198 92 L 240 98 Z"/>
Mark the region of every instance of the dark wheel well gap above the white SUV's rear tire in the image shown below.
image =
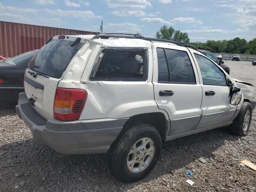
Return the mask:
<path id="1" fill-rule="evenodd" d="M 150 124 L 158 130 L 162 140 L 165 140 L 166 131 L 168 130 L 168 123 L 164 114 L 160 112 L 155 113 L 146 113 L 146 114 L 138 114 L 130 117 L 130 119 L 124 124 L 124 128 L 122 132 L 125 132 L 128 128 L 130 128 L 135 122 L 144 122 L 146 124 Z M 121 132 L 121 133 L 122 133 Z"/>

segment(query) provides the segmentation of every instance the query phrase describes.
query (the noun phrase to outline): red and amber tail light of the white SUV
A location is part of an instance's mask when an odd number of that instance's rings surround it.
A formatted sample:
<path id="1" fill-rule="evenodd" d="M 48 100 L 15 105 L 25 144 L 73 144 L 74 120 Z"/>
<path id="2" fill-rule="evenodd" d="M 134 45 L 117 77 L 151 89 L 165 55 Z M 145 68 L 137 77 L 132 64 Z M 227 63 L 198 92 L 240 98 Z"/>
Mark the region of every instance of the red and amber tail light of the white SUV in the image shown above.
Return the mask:
<path id="1" fill-rule="evenodd" d="M 57 87 L 54 97 L 54 118 L 61 121 L 78 120 L 84 108 L 87 92 L 83 89 Z"/>

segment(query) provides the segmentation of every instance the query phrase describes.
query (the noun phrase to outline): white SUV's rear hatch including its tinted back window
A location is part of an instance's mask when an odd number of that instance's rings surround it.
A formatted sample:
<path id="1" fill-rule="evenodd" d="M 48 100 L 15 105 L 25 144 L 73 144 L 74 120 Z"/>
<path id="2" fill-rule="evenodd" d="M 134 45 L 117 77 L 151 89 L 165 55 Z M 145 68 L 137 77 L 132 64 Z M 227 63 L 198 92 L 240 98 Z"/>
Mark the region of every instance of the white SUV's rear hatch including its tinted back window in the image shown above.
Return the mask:
<path id="1" fill-rule="evenodd" d="M 26 96 L 46 120 L 54 118 L 53 104 L 58 82 L 85 41 L 77 36 L 55 36 L 32 58 L 24 76 Z"/>

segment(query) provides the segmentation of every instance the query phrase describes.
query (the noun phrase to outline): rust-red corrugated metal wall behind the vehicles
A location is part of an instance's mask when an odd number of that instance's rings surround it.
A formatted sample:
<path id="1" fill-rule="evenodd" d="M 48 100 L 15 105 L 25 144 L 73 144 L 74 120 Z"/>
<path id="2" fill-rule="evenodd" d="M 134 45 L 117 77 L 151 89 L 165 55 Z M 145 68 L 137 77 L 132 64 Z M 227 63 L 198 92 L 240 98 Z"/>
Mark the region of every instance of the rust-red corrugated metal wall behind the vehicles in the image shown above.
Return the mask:
<path id="1" fill-rule="evenodd" d="M 95 32 L 45 27 L 0 21 L 0 55 L 16 55 L 41 48 L 49 38 L 66 33 L 95 34 Z"/>

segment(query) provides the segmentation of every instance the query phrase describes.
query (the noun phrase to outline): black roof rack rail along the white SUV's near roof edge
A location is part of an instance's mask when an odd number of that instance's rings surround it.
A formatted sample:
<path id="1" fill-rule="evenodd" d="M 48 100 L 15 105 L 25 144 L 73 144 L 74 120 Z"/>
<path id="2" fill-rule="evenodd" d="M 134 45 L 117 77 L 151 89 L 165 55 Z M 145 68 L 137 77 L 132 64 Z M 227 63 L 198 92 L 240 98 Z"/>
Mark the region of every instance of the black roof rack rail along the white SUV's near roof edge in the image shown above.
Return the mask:
<path id="1" fill-rule="evenodd" d="M 104 34 L 98 34 L 96 36 L 94 36 L 92 39 L 109 39 L 109 38 L 128 38 L 128 39 L 143 39 L 146 41 L 158 41 L 158 42 L 167 42 L 167 43 L 173 43 L 179 46 L 183 46 L 183 47 L 189 47 L 192 48 L 194 50 L 198 49 L 195 46 L 192 46 L 190 44 L 187 44 L 184 41 L 172 41 L 172 40 L 165 40 L 165 39 L 157 39 L 157 38 L 148 38 L 148 37 L 144 37 L 142 36 L 140 33 L 138 34 L 127 34 L 127 33 L 104 33 Z"/>

